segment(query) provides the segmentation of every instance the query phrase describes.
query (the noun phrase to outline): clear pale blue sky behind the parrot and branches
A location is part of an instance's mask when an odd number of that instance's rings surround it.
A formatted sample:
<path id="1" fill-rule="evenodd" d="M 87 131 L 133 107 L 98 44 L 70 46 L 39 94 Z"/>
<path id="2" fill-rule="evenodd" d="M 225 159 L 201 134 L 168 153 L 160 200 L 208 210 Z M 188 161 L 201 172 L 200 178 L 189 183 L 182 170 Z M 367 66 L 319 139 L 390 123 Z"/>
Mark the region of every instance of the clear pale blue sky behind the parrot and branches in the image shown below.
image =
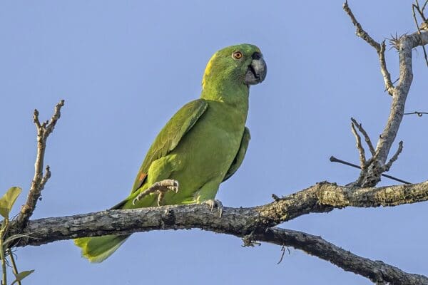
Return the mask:
<path id="1" fill-rule="evenodd" d="M 415 31 L 410 0 L 350 1 L 381 41 Z M 0 192 L 34 174 L 34 108 L 41 119 L 60 99 L 63 115 L 49 138 L 52 177 L 34 218 L 96 212 L 128 195 L 146 150 L 178 108 L 200 94 L 205 64 L 219 48 L 254 43 L 267 78 L 250 90 L 252 140 L 243 166 L 218 192 L 225 206 L 271 202 L 328 180 L 352 182 L 358 162 L 350 117 L 375 140 L 391 98 L 377 54 L 355 36 L 342 1 L 1 1 Z M 428 68 L 414 51 L 406 110 L 428 111 Z M 398 58 L 387 52 L 392 79 Z M 406 116 L 394 143 L 404 151 L 390 170 L 428 179 L 428 116 Z M 395 182 L 384 179 L 379 185 Z M 355 254 L 428 274 L 427 203 L 335 209 L 282 227 L 320 235 Z M 291 249 L 241 247 L 198 229 L 133 234 L 102 264 L 89 264 L 72 241 L 16 251 L 24 284 L 371 284 Z"/>

